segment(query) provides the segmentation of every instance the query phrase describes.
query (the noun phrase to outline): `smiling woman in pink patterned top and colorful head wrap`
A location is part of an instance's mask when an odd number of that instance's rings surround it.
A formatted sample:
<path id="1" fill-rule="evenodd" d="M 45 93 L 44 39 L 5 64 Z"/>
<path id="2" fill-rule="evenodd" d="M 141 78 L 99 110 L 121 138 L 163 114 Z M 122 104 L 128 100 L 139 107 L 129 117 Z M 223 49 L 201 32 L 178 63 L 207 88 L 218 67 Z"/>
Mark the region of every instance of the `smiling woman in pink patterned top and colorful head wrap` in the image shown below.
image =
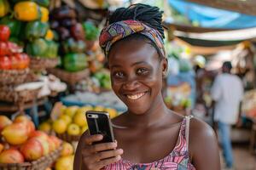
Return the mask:
<path id="1" fill-rule="evenodd" d="M 159 8 L 138 3 L 118 8 L 102 30 L 100 45 L 108 58 L 113 92 L 128 111 L 113 119 L 116 142 L 92 144 L 102 135 L 83 134 L 75 170 L 220 168 L 212 128 L 175 114 L 164 103 L 167 59 L 161 16 Z"/>

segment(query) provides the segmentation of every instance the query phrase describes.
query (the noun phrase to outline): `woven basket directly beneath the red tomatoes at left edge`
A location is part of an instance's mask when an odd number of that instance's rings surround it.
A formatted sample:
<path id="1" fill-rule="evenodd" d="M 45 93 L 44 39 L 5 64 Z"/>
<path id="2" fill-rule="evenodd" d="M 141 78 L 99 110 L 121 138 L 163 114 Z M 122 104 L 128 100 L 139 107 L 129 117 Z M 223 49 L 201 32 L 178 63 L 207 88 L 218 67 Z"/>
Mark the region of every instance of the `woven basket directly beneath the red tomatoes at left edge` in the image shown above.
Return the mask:
<path id="1" fill-rule="evenodd" d="M 25 70 L 0 70 L 0 86 L 15 85 L 26 81 L 29 69 Z"/>

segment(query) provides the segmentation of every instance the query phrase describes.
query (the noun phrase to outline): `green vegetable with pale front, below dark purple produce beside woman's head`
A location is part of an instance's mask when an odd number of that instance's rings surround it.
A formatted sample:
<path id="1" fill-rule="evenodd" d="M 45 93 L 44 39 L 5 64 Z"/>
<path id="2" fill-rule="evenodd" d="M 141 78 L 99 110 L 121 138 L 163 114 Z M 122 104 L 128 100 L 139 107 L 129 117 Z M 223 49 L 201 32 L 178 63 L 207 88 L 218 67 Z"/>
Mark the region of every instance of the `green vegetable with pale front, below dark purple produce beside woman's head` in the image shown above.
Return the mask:
<path id="1" fill-rule="evenodd" d="M 82 71 L 87 67 L 86 55 L 74 53 L 66 54 L 62 64 L 66 71 Z"/>

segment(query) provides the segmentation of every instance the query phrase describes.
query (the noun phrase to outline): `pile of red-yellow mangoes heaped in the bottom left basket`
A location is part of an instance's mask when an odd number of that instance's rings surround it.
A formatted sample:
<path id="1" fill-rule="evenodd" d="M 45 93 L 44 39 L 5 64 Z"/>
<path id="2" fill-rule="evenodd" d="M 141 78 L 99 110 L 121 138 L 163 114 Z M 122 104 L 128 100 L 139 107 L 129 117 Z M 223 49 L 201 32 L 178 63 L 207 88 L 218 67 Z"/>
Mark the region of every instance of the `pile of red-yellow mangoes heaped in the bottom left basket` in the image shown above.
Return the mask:
<path id="1" fill-rule="evenodd" d="M 0 116 L 0 133 L 0 167 L 4 164 L 37 161 L 59 150 L 61 146 L 61 140 L 55 136 L 36 131 L 27 116 L 17 116 L 13 122 L 7 116 Z"/>

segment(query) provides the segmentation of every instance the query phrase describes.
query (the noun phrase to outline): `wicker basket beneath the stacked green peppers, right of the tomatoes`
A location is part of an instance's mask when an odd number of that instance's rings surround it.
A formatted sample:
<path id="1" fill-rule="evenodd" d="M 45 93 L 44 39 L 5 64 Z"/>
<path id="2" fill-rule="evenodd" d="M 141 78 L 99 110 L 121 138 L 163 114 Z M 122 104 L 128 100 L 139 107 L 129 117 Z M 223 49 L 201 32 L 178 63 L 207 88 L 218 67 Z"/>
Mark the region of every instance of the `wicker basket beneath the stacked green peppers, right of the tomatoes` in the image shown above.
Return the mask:
<path id="1" fill-rule="evenodd" d="M 31 57 L 30 58 L 30 68 L 32 71 L 44 71 L 48 68 L 54 68 L 56 65 L 59 64 L 59 59 L 47 59 L 47 58 L 40 58 L 40 57 Z"/>

